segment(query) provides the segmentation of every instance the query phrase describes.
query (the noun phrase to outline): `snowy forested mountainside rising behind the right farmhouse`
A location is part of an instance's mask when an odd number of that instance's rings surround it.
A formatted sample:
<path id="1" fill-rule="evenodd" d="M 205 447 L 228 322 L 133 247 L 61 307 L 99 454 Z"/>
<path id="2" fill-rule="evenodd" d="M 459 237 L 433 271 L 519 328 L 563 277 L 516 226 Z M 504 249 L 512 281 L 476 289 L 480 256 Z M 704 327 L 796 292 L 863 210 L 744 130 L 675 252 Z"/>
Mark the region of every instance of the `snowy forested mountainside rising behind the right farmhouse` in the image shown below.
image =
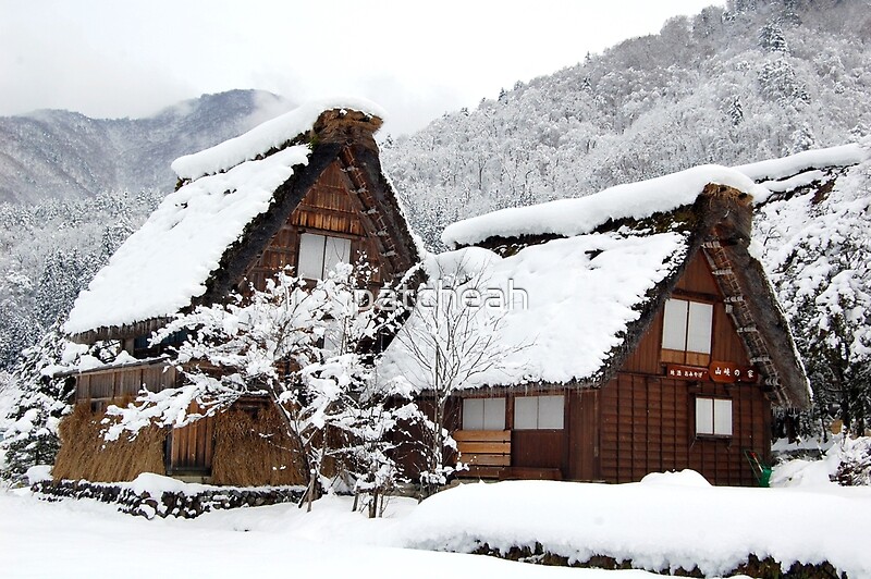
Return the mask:
<path id="1" fill-rule="evenodd" d="M 494 209 L 869 132 L 871 2 L 731 0 L 446 114 L 383 163 L 438 248 L 446 224 Z"/>

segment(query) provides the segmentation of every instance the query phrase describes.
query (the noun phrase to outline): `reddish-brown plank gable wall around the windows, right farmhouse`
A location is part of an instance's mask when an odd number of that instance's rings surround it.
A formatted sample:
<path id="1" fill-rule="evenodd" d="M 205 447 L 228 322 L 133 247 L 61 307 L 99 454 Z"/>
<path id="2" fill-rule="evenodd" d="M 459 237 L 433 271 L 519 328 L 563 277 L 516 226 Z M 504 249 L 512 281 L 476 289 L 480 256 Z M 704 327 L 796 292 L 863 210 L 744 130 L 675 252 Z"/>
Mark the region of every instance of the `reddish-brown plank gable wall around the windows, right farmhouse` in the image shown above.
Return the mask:
<path id="1" fill-rule="evenodd" d="M 710 358 L 749 365 L 702 250 L 691 258 L 673 297 L 713 303 Z M 629 482 L 648 472 L 692 468 L 715 484 L 755 484 L 744 451 L 766 455 L 770 449 L 771 403 L 761 385 L 667 378 L 662 324 L 660 311 L 605 386 L 572 393 L 568 477 Z M 732 436 L 696 435 L 697 396 L 732 401 Z"/>

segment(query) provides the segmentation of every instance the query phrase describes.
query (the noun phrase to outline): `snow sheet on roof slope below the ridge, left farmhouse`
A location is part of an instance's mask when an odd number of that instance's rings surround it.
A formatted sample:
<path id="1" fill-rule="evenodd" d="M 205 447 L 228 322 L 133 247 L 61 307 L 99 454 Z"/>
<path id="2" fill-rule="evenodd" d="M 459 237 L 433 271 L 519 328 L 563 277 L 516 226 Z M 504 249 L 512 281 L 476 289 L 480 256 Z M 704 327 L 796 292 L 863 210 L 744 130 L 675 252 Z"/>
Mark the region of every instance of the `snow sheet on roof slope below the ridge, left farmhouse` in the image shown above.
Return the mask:
<path id="1" fill-rule="evenodd" d="M 198 178 L 170 194 L 79 294 L 69 333 L 171 316 L 206 292 L 226 248 L 274 190 L 308 162 L 304 145 L 224 173 Z"/>

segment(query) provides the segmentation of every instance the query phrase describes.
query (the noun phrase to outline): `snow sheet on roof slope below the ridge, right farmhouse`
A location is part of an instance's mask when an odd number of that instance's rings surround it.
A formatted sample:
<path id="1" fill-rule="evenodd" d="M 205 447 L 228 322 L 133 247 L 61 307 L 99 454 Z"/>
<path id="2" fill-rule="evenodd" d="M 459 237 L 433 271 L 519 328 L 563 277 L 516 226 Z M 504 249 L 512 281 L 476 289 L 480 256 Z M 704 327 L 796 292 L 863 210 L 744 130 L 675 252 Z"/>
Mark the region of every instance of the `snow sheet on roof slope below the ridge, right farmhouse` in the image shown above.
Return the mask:
<path id="1" fill-rule="evenodd" d="M 425 263 L 438 286 L 469 280 L 477 287 L 511 299 L 506 313 L 481 311 L 478 332 L 494 331 L 499 346 L 487 357 L 503 358 L 488 371 L 464 381 L 465 387 L 526 383 L 588 382 L 598 377 L 619 348 L 629 325 L 663 280 L 682 266 L 688 232 L 647 234 L 636 230 L 561 237 L 523 247 L 513 255 L 465 247 L 429 256 Z M 459 293 L 458 293 L 459 294 Z M 383 372 L 429 384 L 409 356 L 406 334 L 432 331 L 433 312 L 418 305 L 406 328 L 388 349 Z M 450 315 L 449 315 L 450 316 Z M 498 321 L 496 321 L 498 320 Z M 445 320 L 445 325 L 463 323 Z M 417 344 L 426 347 L 426 343 Z"/>

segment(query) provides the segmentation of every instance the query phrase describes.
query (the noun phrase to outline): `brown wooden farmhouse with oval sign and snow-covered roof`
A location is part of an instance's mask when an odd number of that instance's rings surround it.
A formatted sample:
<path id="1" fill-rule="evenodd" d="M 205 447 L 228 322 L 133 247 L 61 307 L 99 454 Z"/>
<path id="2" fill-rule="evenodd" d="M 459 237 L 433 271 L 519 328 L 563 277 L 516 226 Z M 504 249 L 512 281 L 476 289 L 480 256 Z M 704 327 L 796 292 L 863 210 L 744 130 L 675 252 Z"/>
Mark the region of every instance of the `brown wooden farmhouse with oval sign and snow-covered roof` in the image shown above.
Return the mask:
<path id="1" fill-rule="evenodd" d="M 702 167 L 449 226 L 458 249 L 430 276 L 475 280 L 508 306 L 475 322 L 499 340 L 449 403 L 467 476 L 629 482 L 689 468 L 756 484 L 746 452 L 768 457 L 773 407 L 809 404 L 753 257 L 757 189 Z M 387 356 L 432 387 L 401 341 Z"/>

